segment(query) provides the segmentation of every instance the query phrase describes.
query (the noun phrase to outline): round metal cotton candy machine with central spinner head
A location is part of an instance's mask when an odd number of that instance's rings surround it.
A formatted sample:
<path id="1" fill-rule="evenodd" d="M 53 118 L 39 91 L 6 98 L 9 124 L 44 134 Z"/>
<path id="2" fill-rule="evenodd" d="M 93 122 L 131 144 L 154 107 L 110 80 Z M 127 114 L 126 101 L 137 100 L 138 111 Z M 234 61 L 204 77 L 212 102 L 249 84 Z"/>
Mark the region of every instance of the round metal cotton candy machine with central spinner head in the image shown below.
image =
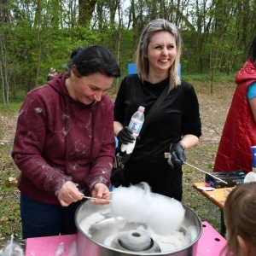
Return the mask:
<path id="1" fill-rule="evenodd" d="M 123 218 L 109 215 L 111 205 L 96 206 L 85 201 L 75 214 L 78 229 L 77 252 L 79 256 L 128 256 L 172 255 L 195 256 L 201 237 L 201 219 L 189 207 L 183 205 L 185 217 L 180 232 L 189 237 L 188 244 L 170 251 L 163 250 L 143 229 L 143 224 L 126 223 Z M 84 218 L 99 212 L 104 218 L 84 230 Z M 96 213 L 97 214 L 97 213 Z M 192 230 L 192 231 L 191 231 Z M 190 234 L 191 233 L 191 234 Z"/>

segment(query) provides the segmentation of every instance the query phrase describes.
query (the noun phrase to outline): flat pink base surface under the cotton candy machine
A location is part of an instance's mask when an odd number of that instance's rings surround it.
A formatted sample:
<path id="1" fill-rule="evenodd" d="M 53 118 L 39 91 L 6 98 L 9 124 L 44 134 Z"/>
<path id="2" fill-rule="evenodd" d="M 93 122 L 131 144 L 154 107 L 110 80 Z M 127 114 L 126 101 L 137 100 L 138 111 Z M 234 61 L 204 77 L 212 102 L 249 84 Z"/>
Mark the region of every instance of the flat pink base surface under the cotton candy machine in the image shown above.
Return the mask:
<path id="1" fill-rule="evenodd" d="M 196 256 L 220 255 L 226 240 L 207 222 L 202 222 L 202 225 L 203 232 L 198 241 Z M 76 235 L 28 238 L 26 256 L 77 256 L 75 247 Z"/>

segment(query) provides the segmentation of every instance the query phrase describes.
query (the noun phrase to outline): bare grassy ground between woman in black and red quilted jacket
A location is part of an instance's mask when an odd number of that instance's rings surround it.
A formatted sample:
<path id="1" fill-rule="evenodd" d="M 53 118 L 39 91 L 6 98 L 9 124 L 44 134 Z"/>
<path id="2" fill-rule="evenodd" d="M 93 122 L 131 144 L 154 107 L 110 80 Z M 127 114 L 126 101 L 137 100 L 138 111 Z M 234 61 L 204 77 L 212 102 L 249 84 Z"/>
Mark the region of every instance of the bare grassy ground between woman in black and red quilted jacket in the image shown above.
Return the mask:
<path id="1" fill-rule="evenodd" d="M 236 84 L 215 84 L 212 95 L 209 85 L 194 85 L 200 103 L 202 136 L 195 147 L 187 150 L 187 162 L 205 172 L 212 172 Z M 205 173 L 183 166 L 183 203 L 220 232 L 220 209 L 193 188 L 193 183 L 204 181 Z"/>

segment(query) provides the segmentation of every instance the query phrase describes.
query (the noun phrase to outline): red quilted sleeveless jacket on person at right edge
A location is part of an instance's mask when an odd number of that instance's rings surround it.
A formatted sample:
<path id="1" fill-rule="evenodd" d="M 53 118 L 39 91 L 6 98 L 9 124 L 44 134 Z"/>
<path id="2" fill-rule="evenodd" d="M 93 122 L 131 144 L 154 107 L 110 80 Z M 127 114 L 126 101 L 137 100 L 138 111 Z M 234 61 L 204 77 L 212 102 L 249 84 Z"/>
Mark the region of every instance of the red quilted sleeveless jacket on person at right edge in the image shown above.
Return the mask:
<path id="1" fill-rule="evenodd" d="M 251 147 L 256 145 L 256 123 L 247 101 L 247 88 L 256 81 L 256 67 L 247 61 L 245 67 L 236 75 L 236 91 L 233 96 L 213 172 L 236 171 L 251 172 L 253 158 Z"/>

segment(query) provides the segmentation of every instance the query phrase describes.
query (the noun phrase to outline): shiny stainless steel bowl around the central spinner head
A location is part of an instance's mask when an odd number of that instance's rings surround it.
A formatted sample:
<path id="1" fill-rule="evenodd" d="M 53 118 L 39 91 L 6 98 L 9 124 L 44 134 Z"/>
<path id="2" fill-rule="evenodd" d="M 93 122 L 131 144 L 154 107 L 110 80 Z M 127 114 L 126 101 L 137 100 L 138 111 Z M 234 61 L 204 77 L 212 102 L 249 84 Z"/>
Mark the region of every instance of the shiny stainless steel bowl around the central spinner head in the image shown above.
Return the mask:
<path id="1" fill-rule="evenodd" d="M 119 247 L 119 244 L 116 245 L 116 241 L 108 247 L 104 244 L 105 239 L 108 236 L 113 234 L 117 234 L 120 231 L 128 231 L 137 230 L 137 226 L 139 224 L 125 224 L 125 227 L 120 229 L 118 224 L 118 218 L 111 218 L 108 216 L 108 212 L 110 212 L 111 206 L 104 205 L 104 206 L 96 206 L 93 205 L 90 201 L 85 201 L 81 206 L 78 208 L 75 214 L 75 222 L 78 229 L 77 234 L 77 252 L 79 256 L 128 256 L 128 255 L 172 255 L 172 256 L 195 256 L 197 253 L 197 244 L 198 240 L 201 237 L 202 233 L 202 224 L 201 219 L 197 216 L 197 214 L 192 211 L 189 207 L 183 205 L 185 209 L 185 218 L 183 220 L 183 232 L 188 232 L 187 227 L 193 226 L 195 228 L 194 238 L 190 243 L 182 248 L 177 250 L 173 250 L 170 252 L 159 252 L 157 249 L 158 245 L 154 241 L 151 241 L 152 246 L 147 248 L 147 250 L 143 251 L 129 251 L 127 248 Z M 106 218 L 103 221 L 93 225 L 91 227 L 93 229 L 92 235 L 86 234 L 82 229 L 81 223 L 84 218 L 90 216 L 95 212 L 104 213 L 103 215 Z M 131 236 L 131 234 L 128 234 Z M 133 236 L 133 235 L 132 235 Z M 141 236 L 137 235 L 136 236 Z M 140 240 L 140 239 L 139 239 Z M 147 240 L 147 239 L 146 239 Z M 118 242 L 119 243 L 119 242 Z M 128 247 L 129 248 L 129 247 Z M 146 248 L 146 247 L 145 247 Z"/>

